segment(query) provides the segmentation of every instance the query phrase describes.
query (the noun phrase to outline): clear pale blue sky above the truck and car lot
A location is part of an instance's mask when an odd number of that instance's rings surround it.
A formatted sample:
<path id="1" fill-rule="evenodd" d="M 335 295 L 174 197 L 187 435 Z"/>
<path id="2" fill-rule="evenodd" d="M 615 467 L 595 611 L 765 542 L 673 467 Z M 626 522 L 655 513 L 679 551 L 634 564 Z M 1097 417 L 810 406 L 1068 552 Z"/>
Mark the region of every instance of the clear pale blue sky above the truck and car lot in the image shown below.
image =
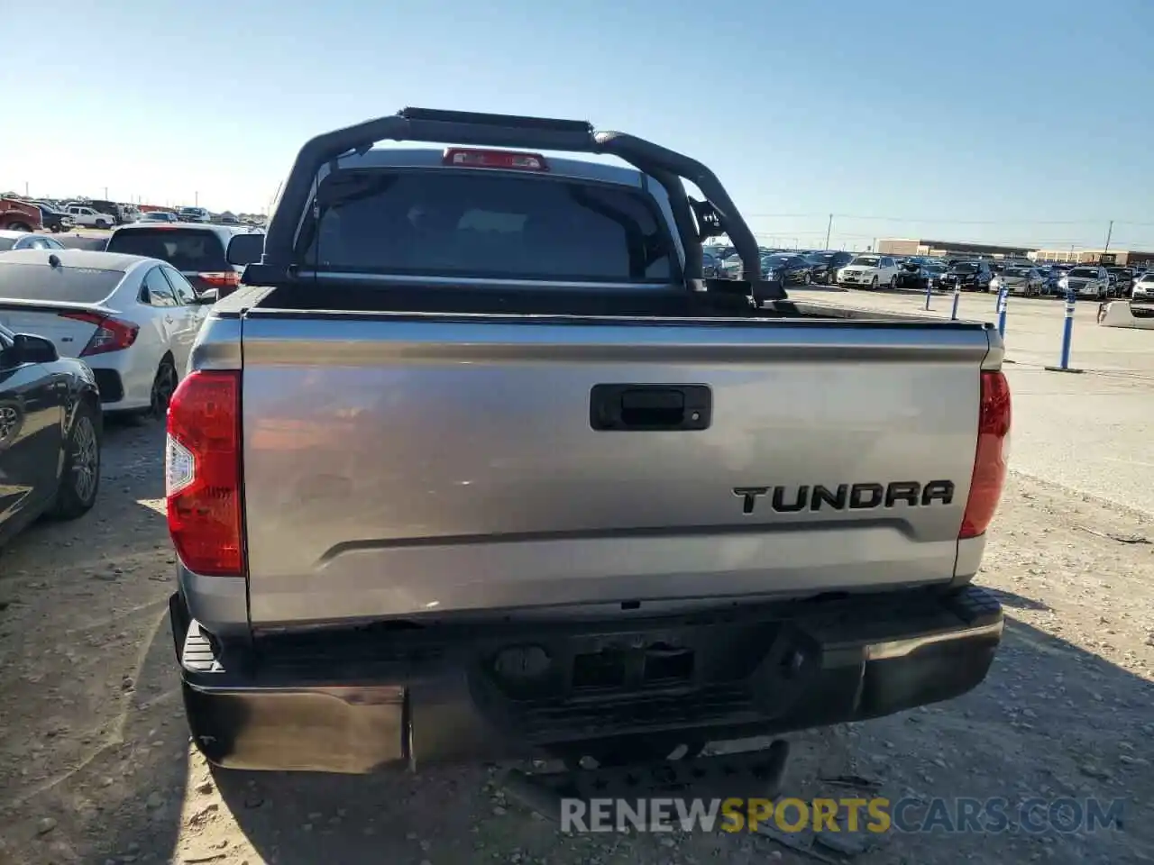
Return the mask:
<path id="1" fill-rule="evenodd" d="M 0 6 L 0 190 L 260 210 L 310 135 L 418 105 L 681 149 L 770 243 L 1154 249 L 1151 0 Z"/>

